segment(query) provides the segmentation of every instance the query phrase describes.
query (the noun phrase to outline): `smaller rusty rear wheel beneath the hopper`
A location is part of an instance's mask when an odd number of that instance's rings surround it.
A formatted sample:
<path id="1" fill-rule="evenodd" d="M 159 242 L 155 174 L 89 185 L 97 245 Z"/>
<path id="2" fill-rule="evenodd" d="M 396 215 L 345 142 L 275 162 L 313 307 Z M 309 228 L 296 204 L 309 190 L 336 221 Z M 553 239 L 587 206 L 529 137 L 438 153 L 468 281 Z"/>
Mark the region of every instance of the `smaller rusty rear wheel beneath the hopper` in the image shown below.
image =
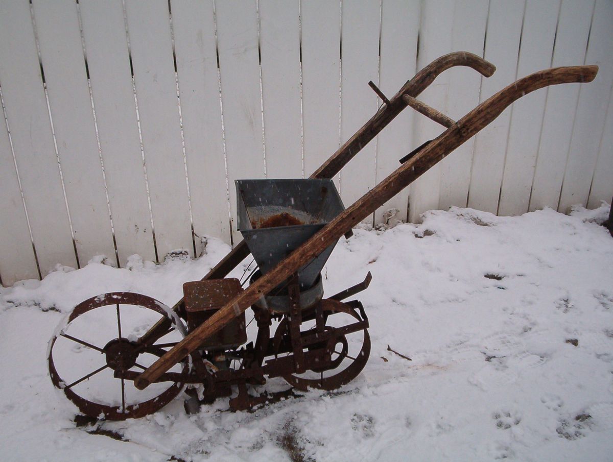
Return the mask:
<path id="1" fill-rule="evenodd" d="M 362 321 L 357 311 L 346 303 L 336 300 L 322 300 L 322 309 L 326 316 L 324 331 L 345 327 L 356 321 Z M 300 336 L 316 333 L 316 321 L 303 322 L 300 326 Z M 289 342 L 289 321 L 287 317 L 281 320 L 276 328 L 273 344 L 282 343 L 286 338 Z M 286 374 L 285 381 L 298 390 L 318 388 L 319 390 L 335 390 L 355 379 L 364 369 L 370 356 L 370 335 L 367 328 L 360 328 L 346 335 L 333 337 L 329 344 L 316 344 L 311 348 L 326 348 L 330 346 L 331 363 L 324 368 L 311 369 L 302 374 Z"/>

